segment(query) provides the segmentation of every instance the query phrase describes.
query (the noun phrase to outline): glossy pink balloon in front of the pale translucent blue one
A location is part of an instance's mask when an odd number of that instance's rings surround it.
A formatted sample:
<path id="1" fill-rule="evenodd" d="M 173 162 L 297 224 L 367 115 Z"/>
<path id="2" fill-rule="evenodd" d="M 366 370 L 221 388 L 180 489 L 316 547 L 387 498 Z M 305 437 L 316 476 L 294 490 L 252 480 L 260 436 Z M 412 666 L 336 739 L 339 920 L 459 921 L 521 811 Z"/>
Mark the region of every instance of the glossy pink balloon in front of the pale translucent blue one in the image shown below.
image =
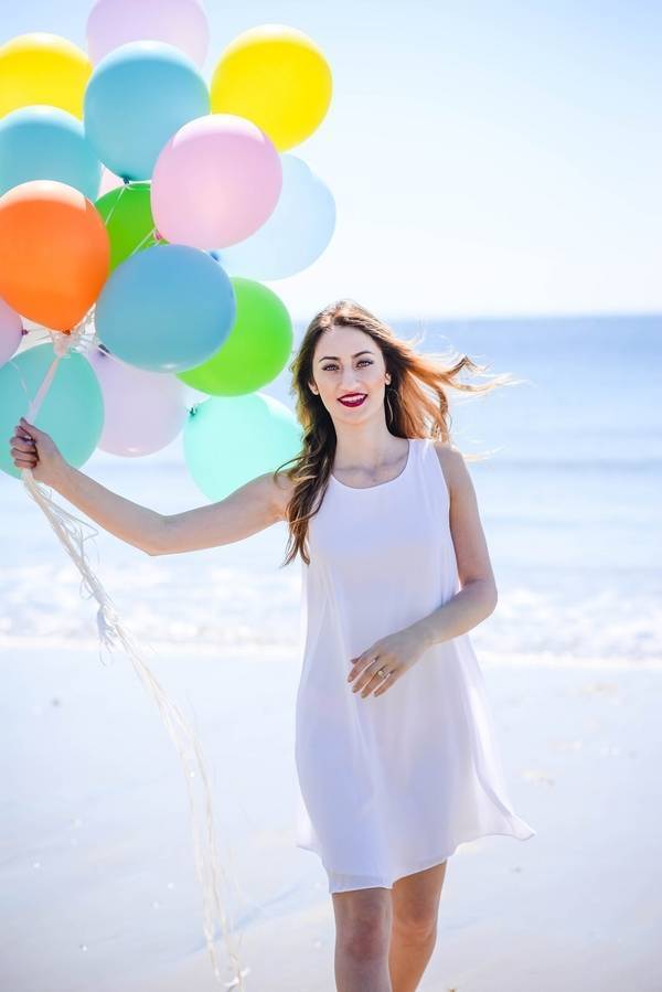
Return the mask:
<path id="1" fill-rule="evenodd" d="M 168 241 L 225 247 L 265 223 L 281 183 L 280 157 L 258 127 L 211 114 L 185 124 L 161 151 L 152 213 Z"/>

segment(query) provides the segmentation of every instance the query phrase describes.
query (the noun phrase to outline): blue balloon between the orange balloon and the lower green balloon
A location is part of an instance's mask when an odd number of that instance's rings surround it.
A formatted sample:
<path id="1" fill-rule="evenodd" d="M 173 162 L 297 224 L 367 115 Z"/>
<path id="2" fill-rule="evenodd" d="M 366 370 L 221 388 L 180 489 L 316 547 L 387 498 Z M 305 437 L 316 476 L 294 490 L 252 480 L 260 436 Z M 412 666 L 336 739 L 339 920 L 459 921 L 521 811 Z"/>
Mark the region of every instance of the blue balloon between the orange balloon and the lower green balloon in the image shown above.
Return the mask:
<path id="1" fill-rule="evenodd" d="M 115 269 L 96 305 L 106 348 L 151 372 L 181 372 L 205 362 L 235 319 L 232 282 L 205 252 L 157 245 Z"/>

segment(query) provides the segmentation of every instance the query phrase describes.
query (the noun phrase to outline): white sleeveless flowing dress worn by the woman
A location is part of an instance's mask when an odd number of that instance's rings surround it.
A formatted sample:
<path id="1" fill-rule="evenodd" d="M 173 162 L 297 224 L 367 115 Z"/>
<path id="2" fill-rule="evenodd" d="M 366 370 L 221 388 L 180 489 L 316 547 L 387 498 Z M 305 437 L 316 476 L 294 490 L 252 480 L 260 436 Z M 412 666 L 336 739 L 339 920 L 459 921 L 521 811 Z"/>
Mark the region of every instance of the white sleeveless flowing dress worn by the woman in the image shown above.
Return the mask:
<path id="1" fill-rule="evenodd" d="M 458 844 L 535 831 L 512 809 L 468 634 L 428 648 L 382 695 L 352 692 L 350 659 L 460 589 L 449 494 L 434 441 L 409 438 L 395 479 L 331 476 L 302 562 L 296 706 L 296 845 L 329 892 L 382 886 Z"/>

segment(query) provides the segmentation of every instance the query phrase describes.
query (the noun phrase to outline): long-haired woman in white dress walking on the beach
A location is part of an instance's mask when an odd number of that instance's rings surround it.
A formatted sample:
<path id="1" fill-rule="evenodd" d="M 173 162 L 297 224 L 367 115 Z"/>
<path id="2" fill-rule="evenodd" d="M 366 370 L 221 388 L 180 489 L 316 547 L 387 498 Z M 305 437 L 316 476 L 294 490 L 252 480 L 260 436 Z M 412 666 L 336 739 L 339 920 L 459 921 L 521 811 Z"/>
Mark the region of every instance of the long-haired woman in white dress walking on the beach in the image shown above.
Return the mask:
<path id="1" fill-rule="evenodd" d="M 31 468 L 150 555 L 239 541 L 287 521 L 301 556 L 297 844 L 316 852 L 337 925 L 339 992 L 413 992 L 436 940 L 447 858 L 535 831 L 512 809 L 468 631 L 496 587 L 447 390 L 482 372 L 417 354 L 351 300 L 322 310 L 290 366 L 303 446 L 287 471 L 163 516 L 67 465 L 23 418 Z M 281 467 L 282 468 L 282 467 Z"/>

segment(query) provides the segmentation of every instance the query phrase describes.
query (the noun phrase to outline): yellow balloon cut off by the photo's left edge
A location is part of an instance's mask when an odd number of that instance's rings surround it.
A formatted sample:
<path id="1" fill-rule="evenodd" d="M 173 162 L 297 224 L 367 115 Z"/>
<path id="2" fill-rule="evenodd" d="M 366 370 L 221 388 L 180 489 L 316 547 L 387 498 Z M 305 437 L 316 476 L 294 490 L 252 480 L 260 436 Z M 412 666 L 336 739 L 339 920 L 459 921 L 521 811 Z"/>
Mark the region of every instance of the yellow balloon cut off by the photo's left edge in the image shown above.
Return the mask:
<path id="1" fill-rule="evenodd" d="M 83 117 L 92 75 L 85 52 L 58 34 L 20 34 L 0 47 L 0 117 L 19 107 L 46 104 Z"/>

